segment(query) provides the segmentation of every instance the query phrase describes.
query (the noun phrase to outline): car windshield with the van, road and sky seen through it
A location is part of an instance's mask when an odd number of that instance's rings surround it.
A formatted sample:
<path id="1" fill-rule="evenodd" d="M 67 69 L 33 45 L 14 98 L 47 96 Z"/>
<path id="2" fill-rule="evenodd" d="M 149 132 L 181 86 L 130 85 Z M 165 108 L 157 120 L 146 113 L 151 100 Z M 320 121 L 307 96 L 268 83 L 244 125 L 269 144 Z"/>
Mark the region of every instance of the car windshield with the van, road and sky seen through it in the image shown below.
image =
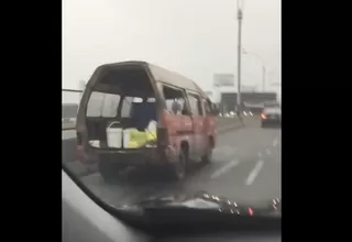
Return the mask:
<path id="1" fill-rule="evenodd" d="M 84 186 L 117 208 L 280 198 L 280 119 L 263 114 L 280 102 L 279 0 L 63 6 L 62 163 Z"/>

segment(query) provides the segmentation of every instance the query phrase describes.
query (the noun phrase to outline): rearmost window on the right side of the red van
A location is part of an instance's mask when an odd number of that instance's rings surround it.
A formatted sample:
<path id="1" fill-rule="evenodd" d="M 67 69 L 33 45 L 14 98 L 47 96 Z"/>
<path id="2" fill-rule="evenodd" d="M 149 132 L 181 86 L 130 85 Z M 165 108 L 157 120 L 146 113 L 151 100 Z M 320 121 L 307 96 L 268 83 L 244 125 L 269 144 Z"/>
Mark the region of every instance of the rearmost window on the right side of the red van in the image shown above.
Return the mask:
<path id="1" fill-rule="evenodd" d="M 163 86 L 163 94 L 167 111 L 175 116 L 189 113 L 184 90 Z"/>

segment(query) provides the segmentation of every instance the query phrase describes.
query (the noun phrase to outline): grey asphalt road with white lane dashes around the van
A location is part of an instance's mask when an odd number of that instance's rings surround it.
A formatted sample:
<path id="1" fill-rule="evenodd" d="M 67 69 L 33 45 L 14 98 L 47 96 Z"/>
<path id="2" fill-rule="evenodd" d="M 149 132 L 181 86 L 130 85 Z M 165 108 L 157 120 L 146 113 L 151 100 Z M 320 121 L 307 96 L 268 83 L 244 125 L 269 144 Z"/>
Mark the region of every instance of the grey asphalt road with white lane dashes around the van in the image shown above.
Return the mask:
<path id="1" fill-rule="evenodd" d="M 194 167 L 183 182 L 165 182 L 139 169 L 127 172 L 114 184 L 106 184 L 97 173 L 81 179 L 97 196 L 117 206 L 199 190 L 255 205 L 280 198 L 280 129 L 262 129 L 258 120 L 250 120 L 245 128 L 219 135 L 212 163 Z"/>

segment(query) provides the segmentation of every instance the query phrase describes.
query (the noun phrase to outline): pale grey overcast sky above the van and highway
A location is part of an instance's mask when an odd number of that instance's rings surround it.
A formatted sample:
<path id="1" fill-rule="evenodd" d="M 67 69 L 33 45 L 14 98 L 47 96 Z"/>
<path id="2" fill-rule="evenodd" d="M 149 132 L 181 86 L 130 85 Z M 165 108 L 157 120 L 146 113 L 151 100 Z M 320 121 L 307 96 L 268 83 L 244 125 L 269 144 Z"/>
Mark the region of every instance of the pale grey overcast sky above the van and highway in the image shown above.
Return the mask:
<path id="1" fill-rule="evenodd" d="M 235 0 L 64 0 L 63 88 L 77 89 L 103 63 L 141 59 L 212 88 L 235 73 Z M 245 0 L 243 48 L 280 81 L 280 0 Z M 261 63 L 243 56 L 243 85 L 261 88 Z M 268 87 L 278 91 L 278 88 Z"/>

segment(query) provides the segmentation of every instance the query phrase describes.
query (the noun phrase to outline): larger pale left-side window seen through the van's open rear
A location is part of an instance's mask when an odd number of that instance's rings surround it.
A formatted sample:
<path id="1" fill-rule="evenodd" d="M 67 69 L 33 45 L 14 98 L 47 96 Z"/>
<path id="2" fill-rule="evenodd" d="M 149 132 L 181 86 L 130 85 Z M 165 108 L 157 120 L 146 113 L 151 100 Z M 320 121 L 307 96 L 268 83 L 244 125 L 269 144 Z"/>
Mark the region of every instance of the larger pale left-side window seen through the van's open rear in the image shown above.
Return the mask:
<path id="1" fill-rule="evenodd" d="M 92 91 L 87 106 L 87 117 L 117 117 L 120 99 L 120 95 Z"/>

